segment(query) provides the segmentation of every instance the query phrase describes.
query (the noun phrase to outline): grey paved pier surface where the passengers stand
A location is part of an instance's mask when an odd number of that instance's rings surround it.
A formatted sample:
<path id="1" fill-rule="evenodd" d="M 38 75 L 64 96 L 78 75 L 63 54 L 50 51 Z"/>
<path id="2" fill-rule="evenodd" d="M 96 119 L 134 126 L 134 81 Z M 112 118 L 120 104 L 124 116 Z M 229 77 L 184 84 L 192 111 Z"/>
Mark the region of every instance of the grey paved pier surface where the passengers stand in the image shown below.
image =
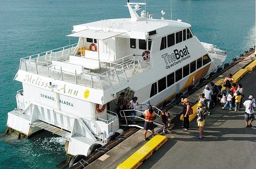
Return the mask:
<path id="1" fill-rule="evenodd" d="M 248 65 L 253 57 L 254 53 L 223 72 L 213 82 L 219 83 L 229 73 L 234 75 Z M 245 97 L 242 103 L 250 94 L 256 96 L 256 70 L 248 71 L 236 83 L 241 83 L 244 88 Z M 190 95 L 189 99 L 192 102 L 196 101 L 203 88 Z M 255 169 L 256 122 L 252 122 L 253 127 L 246 127 L 245 107 L 240 108 L 238 112 L 234 111 L 234 107 L 232 111 L 222 110 L 221 107 L 217 104 L 211 110 L 211 115 L 206 116 L 202 139 L 195 138 L 198 135 L 195 119 L 190 122 L 188 131 L 183 131 L 181 128 L 182 121 L 176 121 L 175 128 L 165 134 L 168 141 L 138 169 Z M 170 111 L 177 113 L 174 112 L 177 111 L 177 107 L 173 107 Z M 151 138 L 149 134 L 148 138 Z M 85 169 L 116 169 L 145 143 L 147 141 L 143 141 L 141 129 Z"/>

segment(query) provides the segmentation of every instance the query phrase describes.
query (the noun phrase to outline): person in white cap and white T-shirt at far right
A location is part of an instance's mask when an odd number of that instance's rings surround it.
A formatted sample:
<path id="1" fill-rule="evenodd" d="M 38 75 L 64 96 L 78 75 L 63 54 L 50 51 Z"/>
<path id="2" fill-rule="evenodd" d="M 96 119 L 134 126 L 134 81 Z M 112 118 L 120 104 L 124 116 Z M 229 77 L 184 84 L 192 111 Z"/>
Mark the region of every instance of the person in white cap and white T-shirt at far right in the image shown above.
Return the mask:
<path id="1" fill-rule="evenodd" d="M 254 96 L 249 95 L 248 100 L 243 102 L 243 106 L 245 106 L 244 120 L 246 127 L 252 127 L 251 122 L 254 120 L 254 108 L 256 108 Z"/>

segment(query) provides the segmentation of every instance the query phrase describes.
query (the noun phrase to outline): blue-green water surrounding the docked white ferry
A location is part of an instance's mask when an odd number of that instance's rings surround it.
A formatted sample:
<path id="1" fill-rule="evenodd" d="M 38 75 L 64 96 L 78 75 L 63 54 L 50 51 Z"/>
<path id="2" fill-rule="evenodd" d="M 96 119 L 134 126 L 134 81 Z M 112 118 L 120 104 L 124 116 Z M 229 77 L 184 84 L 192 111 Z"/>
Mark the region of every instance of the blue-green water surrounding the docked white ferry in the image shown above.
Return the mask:
<path id="1" fill-rule="evenodd" d="M 144 2 L 142 0 L 141 2 Z M 147 11 L 170 19 L 170 0 L 147 0 Z M 0 168 L 55 169 L 66 158 L 65 140 L 43 132 L 29 139 L 7 138 L 7 112 L 22 88 L 13 81 L 20 58 L 68 45 L 73 25 L 128 18 L 126 0 L 0 1 Z M 160 7 L 162 6 L 162 7 Z M 172 19 L 192 25 L 206 43 L 228 51 L 226 62 L 255 45 L 255 0 L 172 0 Z M 72 41 L 75 43 L 75 41 Z"/>

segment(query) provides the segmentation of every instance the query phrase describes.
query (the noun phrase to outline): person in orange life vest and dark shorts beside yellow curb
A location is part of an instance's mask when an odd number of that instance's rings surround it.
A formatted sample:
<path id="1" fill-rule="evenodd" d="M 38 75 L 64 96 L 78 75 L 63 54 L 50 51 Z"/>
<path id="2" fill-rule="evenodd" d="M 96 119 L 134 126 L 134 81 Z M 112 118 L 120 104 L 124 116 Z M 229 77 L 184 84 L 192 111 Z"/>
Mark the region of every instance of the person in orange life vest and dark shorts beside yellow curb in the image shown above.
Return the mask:
<path id="1" fill-rule="evenodd" d="M 155 115 L 155 111 L 153 110 L 151 105 L 148 105 L 148 110 L 145 110 L 144 114 L 145 114 L 144 141 L 146 141 L 148 130 L 150 130 L 152 132 L 153 137 L 155 136 L 153 121 L 154 121 L 156 115 Z"/>

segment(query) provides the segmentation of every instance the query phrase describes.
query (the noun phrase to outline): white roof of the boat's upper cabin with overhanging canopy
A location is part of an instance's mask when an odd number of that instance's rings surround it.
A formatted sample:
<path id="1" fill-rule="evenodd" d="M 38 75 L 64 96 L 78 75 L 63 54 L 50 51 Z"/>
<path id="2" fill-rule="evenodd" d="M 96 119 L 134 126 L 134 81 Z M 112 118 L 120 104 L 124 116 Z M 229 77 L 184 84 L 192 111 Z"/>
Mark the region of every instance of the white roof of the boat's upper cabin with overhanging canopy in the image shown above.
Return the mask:
<path id="1" fill-rule="evenodd" d="M 133 21 L 132 19 L 125 18 L 107 19 L 81 25 L 74 25 L 74 29 L 72 31 L 74 33 L 67 36 L 104 40 L 122 35 L 127 36 L 127 38 L 147 39 L 159 38 L 165 36 L 166 32 L 176 32 L 190 26 L 190 24 L 182 22 L 179 19 L 148 19 L 147 21 L 146 18 L 142 18 L 141 21 Z M 148 32 L 151 31 L 156 31 L 156 33 L 149 36 Z"/>

